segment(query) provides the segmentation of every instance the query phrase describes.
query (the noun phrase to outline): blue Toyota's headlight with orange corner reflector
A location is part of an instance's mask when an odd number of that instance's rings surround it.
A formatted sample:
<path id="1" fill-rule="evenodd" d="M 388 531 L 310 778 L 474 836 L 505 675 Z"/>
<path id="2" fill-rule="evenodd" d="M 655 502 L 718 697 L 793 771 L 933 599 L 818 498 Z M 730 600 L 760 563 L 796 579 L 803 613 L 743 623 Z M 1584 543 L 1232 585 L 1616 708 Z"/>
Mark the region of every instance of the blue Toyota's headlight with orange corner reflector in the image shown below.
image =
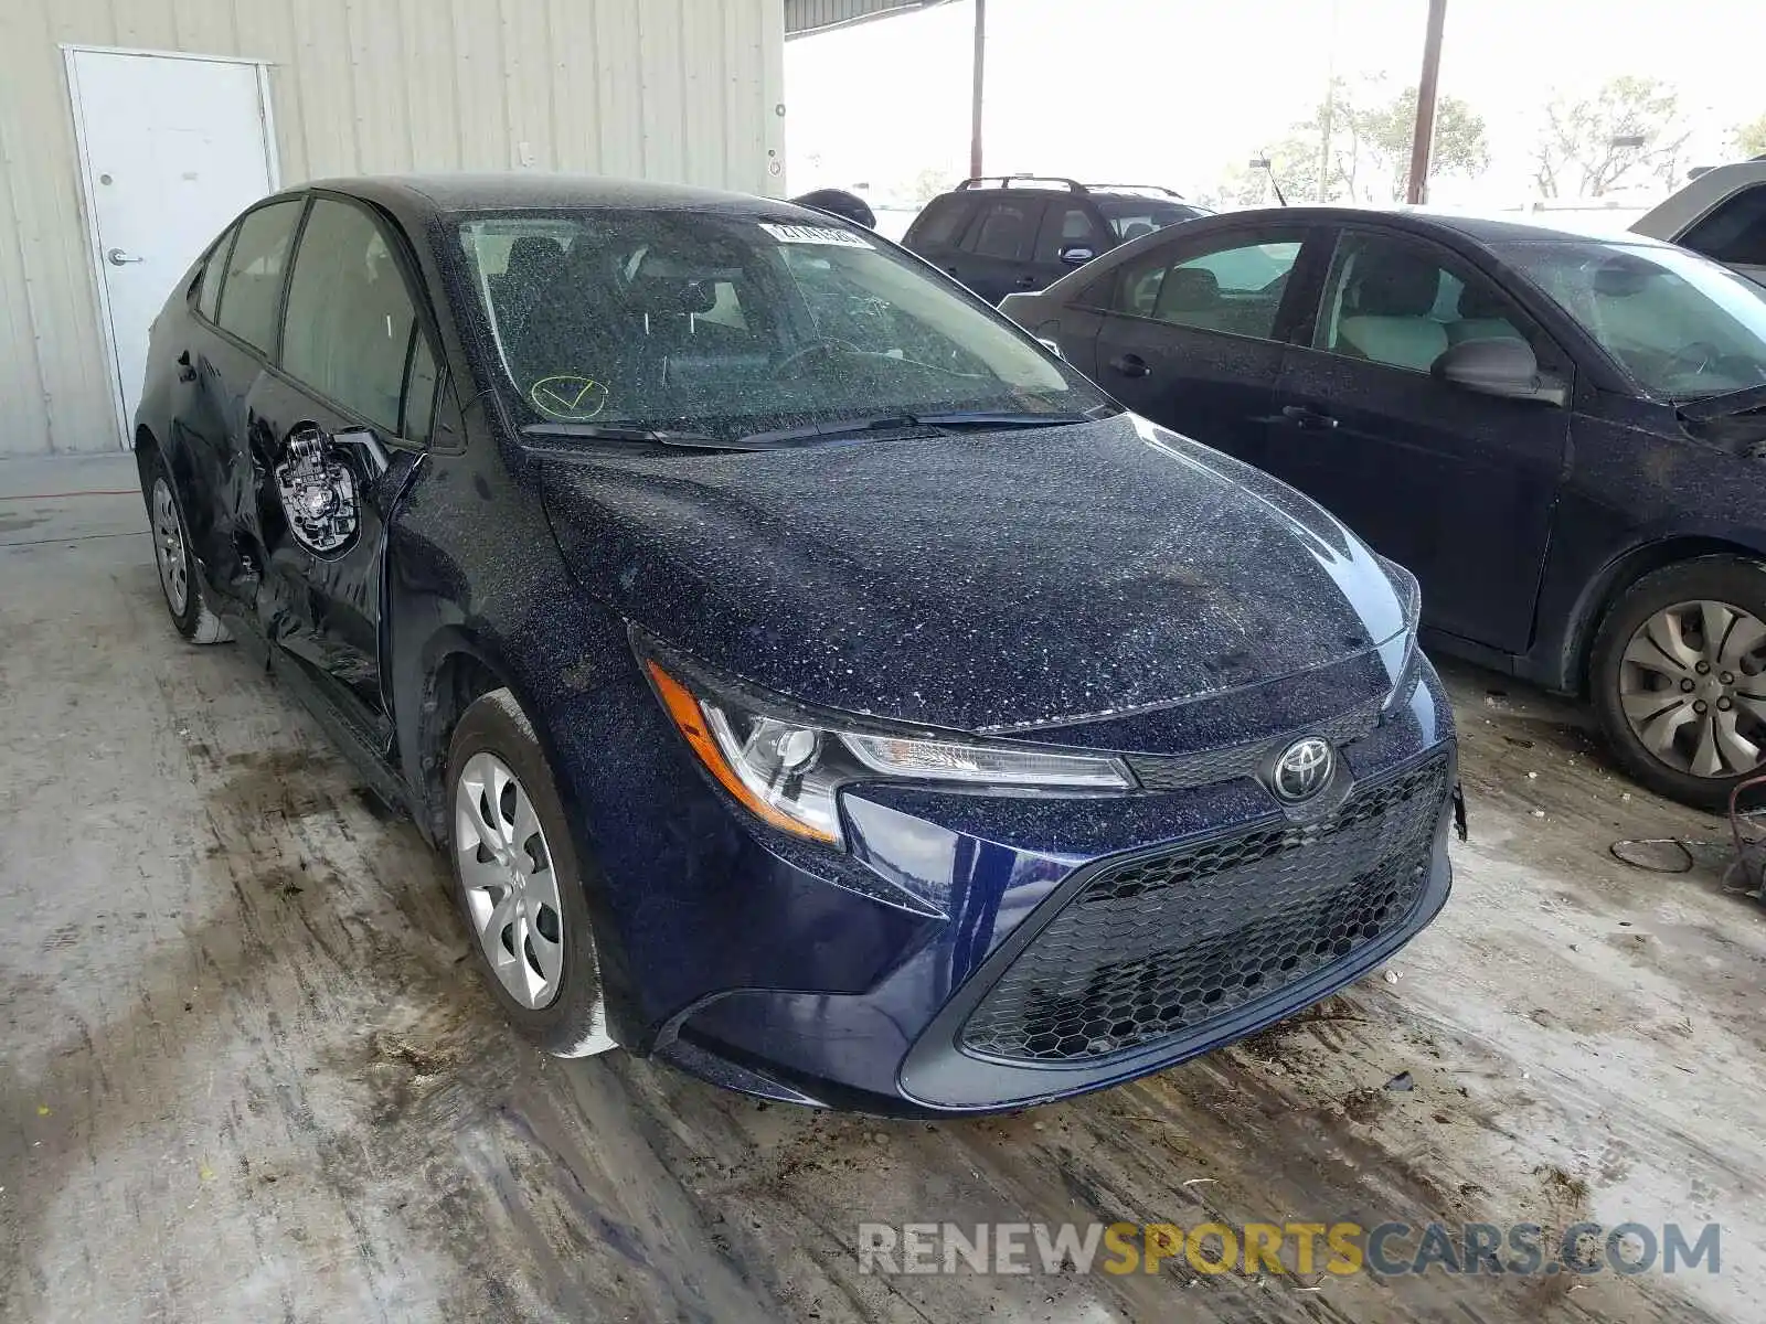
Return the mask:
<path id="1" fill-rule="evenodd" d="M 751 814 L 796 837 L 841 844 L 839 789 L 846 782 L 1074 791 L 1127 791 L 1136 784 L 1118 759 L 897 736 L 858 722 L 846 727 L 751 694 L 717 692 L 669 666 L 645 658 L 650 683 L 689 749 Z"/>

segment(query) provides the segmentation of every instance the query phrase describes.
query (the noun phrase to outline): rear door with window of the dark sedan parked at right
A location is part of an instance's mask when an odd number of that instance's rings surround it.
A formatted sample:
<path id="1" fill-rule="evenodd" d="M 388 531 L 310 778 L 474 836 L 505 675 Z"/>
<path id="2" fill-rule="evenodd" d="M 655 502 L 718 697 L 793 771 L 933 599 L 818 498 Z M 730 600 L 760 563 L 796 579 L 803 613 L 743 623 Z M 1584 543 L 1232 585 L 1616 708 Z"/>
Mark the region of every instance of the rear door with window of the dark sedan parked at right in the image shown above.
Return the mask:
<path id="1" fill-rule="evenodd" d="M 1307 229 L 1174 233 L 1102 293 L 1097 381 L 1136 413 L 1261 463 Z"/>

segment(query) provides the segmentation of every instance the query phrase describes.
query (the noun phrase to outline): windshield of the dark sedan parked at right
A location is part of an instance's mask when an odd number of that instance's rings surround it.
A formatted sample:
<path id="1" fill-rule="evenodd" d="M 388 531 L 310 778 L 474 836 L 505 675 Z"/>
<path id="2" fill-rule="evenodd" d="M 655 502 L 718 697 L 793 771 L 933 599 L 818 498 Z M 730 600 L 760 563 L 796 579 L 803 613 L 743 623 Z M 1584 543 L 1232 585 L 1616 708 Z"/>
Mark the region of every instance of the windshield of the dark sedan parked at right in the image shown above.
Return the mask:
<path id="1" fill-rule="evenodd" d="M 1604 240 L 1519 242 L 1526 272 L 1646 392 L 1685 401 L 1766 381 L 1766 290 L 1694 252 Z"/>

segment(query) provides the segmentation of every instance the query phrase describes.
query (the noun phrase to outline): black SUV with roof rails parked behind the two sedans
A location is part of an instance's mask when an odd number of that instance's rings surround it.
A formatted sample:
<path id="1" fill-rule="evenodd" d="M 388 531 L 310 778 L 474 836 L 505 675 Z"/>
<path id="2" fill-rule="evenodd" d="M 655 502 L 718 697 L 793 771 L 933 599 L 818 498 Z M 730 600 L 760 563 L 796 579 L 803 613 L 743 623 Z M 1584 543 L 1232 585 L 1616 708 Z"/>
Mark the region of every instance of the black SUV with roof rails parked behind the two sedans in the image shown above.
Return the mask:
<path id="1" fill-rule="evenodd" d="M 1042 290 L 1130 238 L 1211 215 L 1171 189 L 1003 175 L 962 180 L 915 217 L 902 244 L 985 298 Z"/>

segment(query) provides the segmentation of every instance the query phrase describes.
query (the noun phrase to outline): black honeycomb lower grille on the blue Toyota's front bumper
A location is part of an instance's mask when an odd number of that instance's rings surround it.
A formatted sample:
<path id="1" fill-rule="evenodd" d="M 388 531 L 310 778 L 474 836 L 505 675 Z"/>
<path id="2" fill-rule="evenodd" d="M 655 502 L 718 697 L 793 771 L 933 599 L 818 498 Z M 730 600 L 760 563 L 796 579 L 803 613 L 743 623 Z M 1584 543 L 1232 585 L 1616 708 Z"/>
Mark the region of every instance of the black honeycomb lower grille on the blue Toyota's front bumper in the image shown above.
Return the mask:
<path id="1" fill-rule="evenodd" d="M 962 1027 L 973 1052 L 1070 1063 L 1196 1031 L 1397 932 L 1429 877 L 1446 761 L 1332 817 L 1106 867 Z"/>

